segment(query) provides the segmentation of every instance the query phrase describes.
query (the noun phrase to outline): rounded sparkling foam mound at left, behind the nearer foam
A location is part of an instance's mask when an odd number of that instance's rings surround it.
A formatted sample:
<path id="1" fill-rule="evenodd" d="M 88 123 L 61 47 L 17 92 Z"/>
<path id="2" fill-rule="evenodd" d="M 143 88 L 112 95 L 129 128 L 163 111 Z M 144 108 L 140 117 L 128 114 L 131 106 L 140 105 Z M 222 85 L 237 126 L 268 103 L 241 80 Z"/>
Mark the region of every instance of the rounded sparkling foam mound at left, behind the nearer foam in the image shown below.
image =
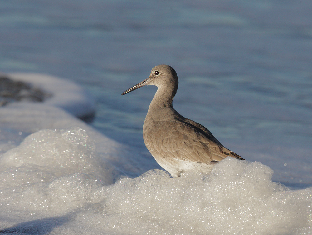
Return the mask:
<path id="1" fill-rule="evenodd" d="M 0 169 L 9 169 L 6 170 L 8 174 L 3 175 L 1 183 L 9 181 L 11 185 L 20 186 L 74 173 L 88 174 L 91 178 L 101 179 L 105 184 L 114 183 L 111 179 L 114 167 L 101 162 L 103 158 L 96 155 L 94 144 L 81 128 L 33 133 L 21 145 L 7 151 L 0 158 Z M 16 177 L 20 169 L 23 169 L 23 174 L 29 169 L 26 172 L 33 177 Z M 15 174 L 9 173 L 14 171 Z M 38 177 L 38 171 L 43 171 L 49 177 Z"/>

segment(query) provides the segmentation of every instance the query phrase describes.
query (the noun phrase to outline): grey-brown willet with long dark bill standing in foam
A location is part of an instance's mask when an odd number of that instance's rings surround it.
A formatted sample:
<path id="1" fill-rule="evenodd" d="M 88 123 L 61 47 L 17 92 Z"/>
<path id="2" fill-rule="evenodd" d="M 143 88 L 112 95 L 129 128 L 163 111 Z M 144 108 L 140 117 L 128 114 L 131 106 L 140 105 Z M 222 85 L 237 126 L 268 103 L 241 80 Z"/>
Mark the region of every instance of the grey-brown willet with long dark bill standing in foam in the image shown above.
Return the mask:
<path id="1" fill-rule="evenodd" d="M 173 109 L 178 76 L 172 67 L 155 66 L 149 78 L 121 95 L 145 85 L 155 85 L 158 89 L 143 124 L 144 143 L 158 164 L 171 176 L 179 177 L 191 169 L 210 173 L 213 165 L 226 157 L 245 160 L 225 148 L 207 128 L 184 118 Z"/>

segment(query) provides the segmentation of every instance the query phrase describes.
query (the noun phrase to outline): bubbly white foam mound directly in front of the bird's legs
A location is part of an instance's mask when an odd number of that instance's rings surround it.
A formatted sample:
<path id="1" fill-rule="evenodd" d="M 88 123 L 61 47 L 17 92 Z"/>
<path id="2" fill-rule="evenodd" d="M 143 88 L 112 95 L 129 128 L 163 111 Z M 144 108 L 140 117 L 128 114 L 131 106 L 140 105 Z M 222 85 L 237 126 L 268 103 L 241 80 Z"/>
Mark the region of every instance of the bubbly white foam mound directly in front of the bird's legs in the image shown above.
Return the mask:
<path id="1" fill-rule="evenodd" d="M 311 188 L 289 190 L 272 182 L 272 173 L 259 162 L 233 158 L 217 164 L 210 176 L 189 172 L 181 178 L 170 178 L 154 170 L 111 186 L 105 205 L 110 213 L 115 212 L 113 220 L 118 222 L 110 223 L 115 232 L 125 227 L 131 227 L 129 231 L 135 234 L 310 231 Z"/>

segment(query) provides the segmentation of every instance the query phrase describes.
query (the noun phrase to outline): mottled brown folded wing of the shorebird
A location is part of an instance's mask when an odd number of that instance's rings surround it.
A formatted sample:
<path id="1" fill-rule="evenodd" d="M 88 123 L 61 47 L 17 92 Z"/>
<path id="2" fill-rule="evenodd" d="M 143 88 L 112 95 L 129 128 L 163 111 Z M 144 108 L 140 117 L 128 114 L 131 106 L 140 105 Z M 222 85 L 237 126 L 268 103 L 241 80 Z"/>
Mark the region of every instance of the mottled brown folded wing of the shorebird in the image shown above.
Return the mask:
<path id="1" fill-rule="evenodd" d="M 144 139 L 150 151 L 159 156 L 185 161 L 210 163 L 221 161 L 231 153 L 218 141 L 216 143 L 214 137 L 207 137 L 200 128 L 179 121 L 154 122 Z"/>

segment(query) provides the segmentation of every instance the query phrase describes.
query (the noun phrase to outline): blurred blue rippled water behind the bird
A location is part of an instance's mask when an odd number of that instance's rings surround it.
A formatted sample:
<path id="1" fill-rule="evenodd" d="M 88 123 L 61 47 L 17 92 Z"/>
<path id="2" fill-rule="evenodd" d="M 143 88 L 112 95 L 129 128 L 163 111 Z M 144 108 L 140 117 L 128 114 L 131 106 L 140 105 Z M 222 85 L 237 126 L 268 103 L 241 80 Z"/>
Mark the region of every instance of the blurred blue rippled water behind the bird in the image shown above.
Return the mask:
<path id="1" fill-rule="evenodd" d="M 120 94 L 169 64 L 180 114 L 248 160 L 311 168 L 311 12 L 310 0 L 1 1 L 0 71 L 76 81 L 96 101 L 90 124 L 148 155 L 156 88 Z"/>

